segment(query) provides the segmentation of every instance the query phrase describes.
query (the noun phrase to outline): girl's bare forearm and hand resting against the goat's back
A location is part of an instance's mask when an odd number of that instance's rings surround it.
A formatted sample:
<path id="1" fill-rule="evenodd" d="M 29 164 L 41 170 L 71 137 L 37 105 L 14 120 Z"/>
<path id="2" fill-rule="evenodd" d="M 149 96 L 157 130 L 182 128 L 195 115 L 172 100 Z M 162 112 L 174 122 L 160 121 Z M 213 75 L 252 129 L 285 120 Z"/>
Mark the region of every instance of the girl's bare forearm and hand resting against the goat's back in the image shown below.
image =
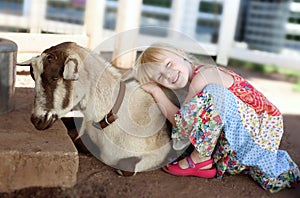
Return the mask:
<path id="1" fill-rule="evenodd" d="M 164 116 L 171 122 L 173 127 L 176 127 L 174 115 L 177 113 L 179 108 L 169 100 L 163 90 L 156 83 L 144 84 L 142 85 L 142 88 L 152 95 Z"/>

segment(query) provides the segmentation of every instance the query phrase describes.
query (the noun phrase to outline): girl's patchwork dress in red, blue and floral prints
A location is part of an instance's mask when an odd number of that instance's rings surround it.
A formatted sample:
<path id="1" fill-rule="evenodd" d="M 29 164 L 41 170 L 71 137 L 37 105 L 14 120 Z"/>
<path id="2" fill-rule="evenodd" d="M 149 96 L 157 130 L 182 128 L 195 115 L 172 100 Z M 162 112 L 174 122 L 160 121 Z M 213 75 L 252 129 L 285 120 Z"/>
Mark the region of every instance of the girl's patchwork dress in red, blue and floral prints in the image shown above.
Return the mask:
<path id="1" fill-rule="evenodd" d="M 249 82 L 222 70 L 233 76 L 233 85 L 226 89 L 210 84 L 184 104 L 175 114 L 172 138 L 188 138 L 201 155 L 213 156 L 217 178 L 243 172 L 270 192 L 293 187 L 300 171 L 288 153 L 279 150 L 281 113 Z"/>

